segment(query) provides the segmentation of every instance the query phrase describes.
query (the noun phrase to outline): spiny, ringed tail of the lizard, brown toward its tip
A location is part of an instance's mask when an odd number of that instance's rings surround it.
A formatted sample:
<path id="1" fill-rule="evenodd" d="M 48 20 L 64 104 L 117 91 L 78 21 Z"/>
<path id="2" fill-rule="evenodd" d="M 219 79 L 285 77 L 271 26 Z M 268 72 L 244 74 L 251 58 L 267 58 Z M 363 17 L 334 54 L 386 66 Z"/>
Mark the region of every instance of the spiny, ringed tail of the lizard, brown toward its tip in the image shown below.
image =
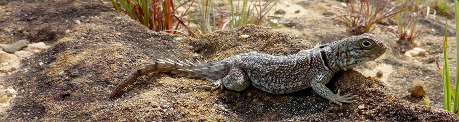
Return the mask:
<path id="1" fill-rule="evenodd" d="M 110 94 L 110 97 L 115 97 L 121 90 L 129 84 L 132 84 L 137 78 L 151 72 L 171 72 L 180 77 L 190 79 L 212 79 L 218 80 L 226 76 L 228 73 L 228 62 L 223 60 L 219 62 L 185 62 L 175 59 L 175 61 L 166 58 L 166 60 L 156 59 L 144 66 L 137 67 L 131 75 L 127 76 Z"/>

